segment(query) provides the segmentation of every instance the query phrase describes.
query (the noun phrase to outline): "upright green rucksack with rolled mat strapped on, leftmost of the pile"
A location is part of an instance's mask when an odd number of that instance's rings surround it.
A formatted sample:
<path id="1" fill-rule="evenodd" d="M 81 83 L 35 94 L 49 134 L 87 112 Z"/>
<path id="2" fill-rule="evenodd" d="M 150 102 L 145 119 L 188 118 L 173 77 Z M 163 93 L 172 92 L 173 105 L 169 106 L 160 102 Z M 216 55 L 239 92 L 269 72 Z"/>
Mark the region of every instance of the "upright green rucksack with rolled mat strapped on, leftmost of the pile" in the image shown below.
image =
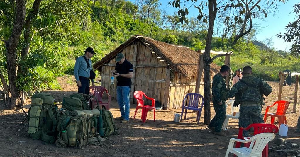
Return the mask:
<path id="1" fill-rule="evenodd" d="M 56 131 L 57 120 L 59 120 L 58 107 L 54 105 L 53 97 L 46 93 L 37 93 L 32 96 L 32 99 L 42 99 L 43 101 L 32 104 L 28 111 L 28 133 L 34 140 L 41 139 L 46 143 L 54 143 L 58 134 Z"/>

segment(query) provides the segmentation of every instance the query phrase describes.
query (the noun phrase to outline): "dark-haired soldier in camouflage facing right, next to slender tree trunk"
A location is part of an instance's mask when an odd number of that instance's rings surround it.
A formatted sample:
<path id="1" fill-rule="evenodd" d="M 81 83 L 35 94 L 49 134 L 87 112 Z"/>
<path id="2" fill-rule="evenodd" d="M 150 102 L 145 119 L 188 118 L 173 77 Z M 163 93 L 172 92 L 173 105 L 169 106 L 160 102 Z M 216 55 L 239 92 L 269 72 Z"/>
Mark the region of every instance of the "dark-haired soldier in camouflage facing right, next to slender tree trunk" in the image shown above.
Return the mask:
<path id="1" fill-rule="evenodd" d="M 219 136 L 226 136 L 221 130 L 226 115 L 225 101 L 228 99 L 224 76 L 227 76 L 228 73 L 229 67 L 223 65 L 220 69 L 220 73 L 217 73 L 212 80 L 212 102 L 216 114 L 214 115 L 214 119 L 212 119 L 208 125 L 208 129 L 213 130 L 214 134 Z"/>

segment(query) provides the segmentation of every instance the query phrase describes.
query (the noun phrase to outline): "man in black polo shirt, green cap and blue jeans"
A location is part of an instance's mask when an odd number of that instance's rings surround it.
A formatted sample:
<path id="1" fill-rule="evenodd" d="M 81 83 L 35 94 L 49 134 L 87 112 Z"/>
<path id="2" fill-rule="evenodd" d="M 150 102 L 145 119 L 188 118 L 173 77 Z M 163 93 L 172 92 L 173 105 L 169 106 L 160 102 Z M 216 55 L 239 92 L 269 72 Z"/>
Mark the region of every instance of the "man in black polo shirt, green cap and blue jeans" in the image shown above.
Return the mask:
<path id="1" fill-rule="evenodd" d="M 122 53 L 119 53 L 116 57 L 116 67 L 112 70 L 113 76 L 117 78 L 117 102 L 119 104 L 121 117 L 117 117 L 117 120 L 121 120 L 121 123 L 129 122 L 130 111 L 130 88 L 131 78 L 133 76 L 133 66 L 127 61 Z"/>

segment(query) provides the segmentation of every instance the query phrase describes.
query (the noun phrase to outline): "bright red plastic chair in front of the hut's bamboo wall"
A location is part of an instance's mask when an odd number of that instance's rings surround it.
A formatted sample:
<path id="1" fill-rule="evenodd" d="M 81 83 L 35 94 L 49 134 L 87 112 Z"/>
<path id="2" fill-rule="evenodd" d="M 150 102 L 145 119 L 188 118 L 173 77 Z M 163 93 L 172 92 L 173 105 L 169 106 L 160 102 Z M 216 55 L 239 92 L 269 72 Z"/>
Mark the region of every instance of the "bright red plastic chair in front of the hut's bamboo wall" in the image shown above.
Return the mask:
<path id="1" fill-rule="evenodd" d="M 152 105 L 144 105 L 143 96 L 145 96 L 146 99 L 151 100 Z M 153 110 L 153 112 L 154 112 L 154 117 L 153 117 L 154 120 L 153 121 L 155 122 L 155 99 L 149 98 L 148 96 L 146 96 L 146 94 L 144 92 L 139 91 L 139 90 L 134 92 L 134 98 L 137 99 L 137 108 L 135 109 L 133 119 L 135 119 L 137 110 L 142 108 L 142 118 L 141 119 L 143 120 L 143 123 L 146 122 L 146 117 L 147 117 L 147 113 L 149 110 Z"/>

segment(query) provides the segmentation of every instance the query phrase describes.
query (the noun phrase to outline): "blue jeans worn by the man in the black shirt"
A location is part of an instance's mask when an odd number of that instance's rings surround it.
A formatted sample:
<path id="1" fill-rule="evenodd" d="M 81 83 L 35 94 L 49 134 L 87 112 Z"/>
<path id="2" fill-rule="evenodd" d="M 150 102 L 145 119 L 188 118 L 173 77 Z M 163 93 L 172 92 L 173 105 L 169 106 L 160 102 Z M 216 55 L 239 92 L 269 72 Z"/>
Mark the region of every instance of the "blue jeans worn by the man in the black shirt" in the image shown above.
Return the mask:
<path id="1" fill-rule="evenodd" d="M 130 87 L 129 86 L 117 86 L 117 102 L 119 104 L 121 116 L 125 120 L 129 120 L 130 111 Z"/>

